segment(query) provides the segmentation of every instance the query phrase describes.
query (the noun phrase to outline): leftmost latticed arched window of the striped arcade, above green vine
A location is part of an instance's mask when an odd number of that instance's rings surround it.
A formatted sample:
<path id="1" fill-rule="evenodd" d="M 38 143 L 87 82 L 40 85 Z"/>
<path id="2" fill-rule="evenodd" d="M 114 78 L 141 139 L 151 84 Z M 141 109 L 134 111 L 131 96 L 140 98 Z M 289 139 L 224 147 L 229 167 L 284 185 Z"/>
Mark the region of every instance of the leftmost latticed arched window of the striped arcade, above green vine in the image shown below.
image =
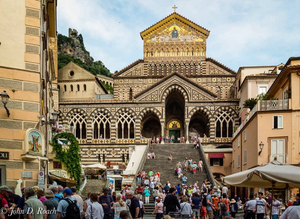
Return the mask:
<path id="1" fill-rule="evenodd" d="M 68 123 L 70 126 L 74 126 L 76 138 L 86 139 L 86 120 L 81 113 L 75 112 L 73 115 L 71 115 Z"/>

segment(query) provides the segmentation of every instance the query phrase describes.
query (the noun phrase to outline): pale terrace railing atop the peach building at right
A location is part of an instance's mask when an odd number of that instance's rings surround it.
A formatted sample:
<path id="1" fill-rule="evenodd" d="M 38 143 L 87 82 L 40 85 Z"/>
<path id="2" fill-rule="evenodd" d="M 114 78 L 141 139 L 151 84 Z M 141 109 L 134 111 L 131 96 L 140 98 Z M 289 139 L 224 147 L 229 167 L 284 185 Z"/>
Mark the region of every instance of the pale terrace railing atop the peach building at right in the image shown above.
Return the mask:
<path id="1" fill-rule="evenodd" d="M 255 114 L 256 111 L 275 111 L 275 110 L 286 110 L 289 109 L 289 100 L 258 100 L 257 104 L 249 112 L 245 120 L 233 133 L 233 138 L 241 131 L 246 125 L 250 118 Z"/>

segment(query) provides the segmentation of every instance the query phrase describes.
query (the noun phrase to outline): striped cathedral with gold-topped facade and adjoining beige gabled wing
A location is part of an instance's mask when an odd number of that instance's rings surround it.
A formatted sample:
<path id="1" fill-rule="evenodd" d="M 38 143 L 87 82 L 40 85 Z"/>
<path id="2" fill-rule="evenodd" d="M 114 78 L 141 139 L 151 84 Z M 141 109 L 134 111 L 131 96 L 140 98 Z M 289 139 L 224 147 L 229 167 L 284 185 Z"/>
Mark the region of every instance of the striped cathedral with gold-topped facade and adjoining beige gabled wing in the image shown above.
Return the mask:
<path id="1" fill-rule="evenodd" d="M 184 136 L 188 144 L 196 135 L 212 149 L 232 148 L 240 107 L 236 72 L 206 57 L 209 31 L 174 12 L 140 35 L 143 59 L 113 78 L 73 62 L 58 71 L 58 122 L 73 126 L 82 164 L 126 162 L 130 145 L 156 136 L 174 135 L 175 142 Z"/>

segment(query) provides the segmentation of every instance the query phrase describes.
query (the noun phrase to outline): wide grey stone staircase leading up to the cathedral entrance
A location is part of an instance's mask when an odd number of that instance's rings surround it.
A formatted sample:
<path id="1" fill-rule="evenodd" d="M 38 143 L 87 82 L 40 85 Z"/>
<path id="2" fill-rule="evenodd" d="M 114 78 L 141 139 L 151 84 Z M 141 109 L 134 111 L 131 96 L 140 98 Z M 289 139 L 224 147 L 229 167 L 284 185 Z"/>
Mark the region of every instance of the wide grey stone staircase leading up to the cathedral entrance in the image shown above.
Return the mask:
<path id="1" fill-rule="evenodd" d="M 182 165 L 182 173 L 187 174 L 187 185 L 193 185 L 196 181 L 198 181 L 198 185 L 199 187 L 201 187 L 201 182 L 205 181 L 205 179 L 208 180 L 208 174 L 205 166 L 203 166 L 202 172 L 200 172 L 199 168 L 197 168 L 196 175 L 193 175 L 193 171 L 190 171 L 189 168 L 187 171 L 184 170 L 184 161 L 186 157 L 191 157 L 197 165 L 199 163 L 199 160 L 203 161 L 203 159 L 206 159 L 205 157 L 203 158 L 199 150 L 194 149 L 193 144 L 155 144 L 154 149 L 151 149 L 150 151 L 153 151 L 156 157 L 155 159 L 146 159 L 143 169 L 147 174 L 150 170 L 152 170 L 154 173 L 156 173 L 156 171 L 158 170 L 161 174 L 161 184 L 166 185 L 167 181 L 170 182 L 171 186 L 182 184 L 181 179 L 178 179 L 178 175 L 175 174 L 176 165 L 179 161 Z M 169 154 L 172 155 L 172 161 L 168 159 Z M 143 180 L 141 180 L 141 184 L 143 183 Z M 152 212 L 154 210 L 153 197 L 150 196 L 149 200 L 150 204 L 144 204 L 144 207 L 146 209 L 146 213 L 144 214 L 144 216 L 155 217 L 155 214 L 152 215 Z"/>

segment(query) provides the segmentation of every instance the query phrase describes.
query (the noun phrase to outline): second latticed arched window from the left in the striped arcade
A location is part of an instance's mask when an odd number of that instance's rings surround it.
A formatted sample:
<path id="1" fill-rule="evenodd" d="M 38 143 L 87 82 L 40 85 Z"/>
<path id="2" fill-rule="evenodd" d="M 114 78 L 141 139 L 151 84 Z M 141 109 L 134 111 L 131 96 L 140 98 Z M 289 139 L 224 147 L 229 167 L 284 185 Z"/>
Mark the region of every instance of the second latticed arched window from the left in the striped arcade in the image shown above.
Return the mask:
<path id="1" fill-rule="evenodd" d="M 110 118 L 104 112 L 98 112 L 94 118 L 92 119 L 92 132 L 93 132 L 93 139 L 110 139 Z"/>

